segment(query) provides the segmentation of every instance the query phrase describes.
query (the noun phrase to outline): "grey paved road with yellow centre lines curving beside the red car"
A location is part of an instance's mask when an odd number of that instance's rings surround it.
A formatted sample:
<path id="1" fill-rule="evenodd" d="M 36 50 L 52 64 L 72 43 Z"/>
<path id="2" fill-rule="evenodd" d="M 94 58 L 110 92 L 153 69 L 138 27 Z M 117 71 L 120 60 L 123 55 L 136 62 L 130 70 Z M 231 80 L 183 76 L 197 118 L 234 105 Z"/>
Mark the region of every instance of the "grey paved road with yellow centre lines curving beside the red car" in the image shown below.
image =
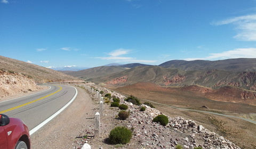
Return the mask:
<path id="1" fill-rule="evenodd" d="M 60 110 L 75 95 L 74 87 L 50 85 L 50 89 L 44 92 L 0 102 L 0 113 L 21 119 L 31 130 Z"/>

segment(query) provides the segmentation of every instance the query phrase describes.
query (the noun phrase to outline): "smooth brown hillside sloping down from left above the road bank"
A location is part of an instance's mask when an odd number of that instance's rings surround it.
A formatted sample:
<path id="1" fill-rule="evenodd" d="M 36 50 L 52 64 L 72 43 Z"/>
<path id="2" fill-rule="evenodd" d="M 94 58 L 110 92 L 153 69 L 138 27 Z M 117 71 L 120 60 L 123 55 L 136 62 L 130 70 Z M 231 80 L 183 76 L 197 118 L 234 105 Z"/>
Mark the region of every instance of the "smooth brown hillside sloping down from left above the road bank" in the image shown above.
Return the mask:
<path id="1" fill-rule="evenodd" d="M 78 78 L 68 76 L 67 74 L 47 69 L 39 65 L 30 64 L 27 62 L 10 59 L 0 56 L 0 69 L 10 72 L 21 73 L 34 79 L 35 82 L 52 82 L 52 81 L 73 81 Z"/>

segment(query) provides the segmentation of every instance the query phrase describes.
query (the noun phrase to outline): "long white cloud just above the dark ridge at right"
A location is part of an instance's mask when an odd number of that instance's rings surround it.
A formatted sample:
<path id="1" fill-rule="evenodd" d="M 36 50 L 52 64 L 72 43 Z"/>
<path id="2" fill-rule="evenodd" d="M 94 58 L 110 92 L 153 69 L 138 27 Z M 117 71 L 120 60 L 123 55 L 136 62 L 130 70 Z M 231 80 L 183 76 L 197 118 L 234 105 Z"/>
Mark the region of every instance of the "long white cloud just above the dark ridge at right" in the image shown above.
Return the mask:
<path id="1" fill-rule="evenodd" d="M 236 48 L 221 53 L 211 53 L 210 56 L 203 58 L 189 58 L 187 61 L 193 60 L 220 60 L 220 59 L 237 59 L 237 58 L 255 58 L 256 48 Z"/>

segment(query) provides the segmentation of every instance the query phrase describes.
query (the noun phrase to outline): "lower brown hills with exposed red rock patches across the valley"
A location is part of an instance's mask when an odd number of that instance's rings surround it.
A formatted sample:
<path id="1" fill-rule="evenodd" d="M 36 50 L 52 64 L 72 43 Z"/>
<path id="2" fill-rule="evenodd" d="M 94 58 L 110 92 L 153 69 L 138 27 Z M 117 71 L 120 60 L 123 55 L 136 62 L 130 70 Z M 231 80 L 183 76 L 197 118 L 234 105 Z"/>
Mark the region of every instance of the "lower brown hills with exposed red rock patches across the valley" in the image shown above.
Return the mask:
<path id="1" fill-rule="evenodd" d="M 137 82 L 153 82 L 161 86 L 199 85 L 217 89 L 223 86 L 234 86 L 256 90 L 256 72 L 234 72 L 225 70 L 193 70 L 163 68 L 158 66 L 136 67 L 98 78 L 93 82 L 114 86 L 126 86 Z"/>

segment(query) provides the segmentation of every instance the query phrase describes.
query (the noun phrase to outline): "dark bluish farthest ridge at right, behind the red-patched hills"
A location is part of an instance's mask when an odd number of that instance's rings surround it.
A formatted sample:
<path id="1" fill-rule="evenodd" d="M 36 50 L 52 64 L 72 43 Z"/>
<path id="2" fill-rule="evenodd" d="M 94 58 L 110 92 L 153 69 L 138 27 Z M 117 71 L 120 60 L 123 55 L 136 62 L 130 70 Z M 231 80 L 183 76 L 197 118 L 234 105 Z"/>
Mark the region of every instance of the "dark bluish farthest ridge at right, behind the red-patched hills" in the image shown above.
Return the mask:
<path id="1" fill-rule="evenodd" d="M 177 68 L 185 71 L 190 70 L 226 70 L 226 71 L 250 71 L 256 72 L 256 59 L 227 59 L 218 61 L 183 61 L 172 60 L 159 64 L 164 68 Z"/>

